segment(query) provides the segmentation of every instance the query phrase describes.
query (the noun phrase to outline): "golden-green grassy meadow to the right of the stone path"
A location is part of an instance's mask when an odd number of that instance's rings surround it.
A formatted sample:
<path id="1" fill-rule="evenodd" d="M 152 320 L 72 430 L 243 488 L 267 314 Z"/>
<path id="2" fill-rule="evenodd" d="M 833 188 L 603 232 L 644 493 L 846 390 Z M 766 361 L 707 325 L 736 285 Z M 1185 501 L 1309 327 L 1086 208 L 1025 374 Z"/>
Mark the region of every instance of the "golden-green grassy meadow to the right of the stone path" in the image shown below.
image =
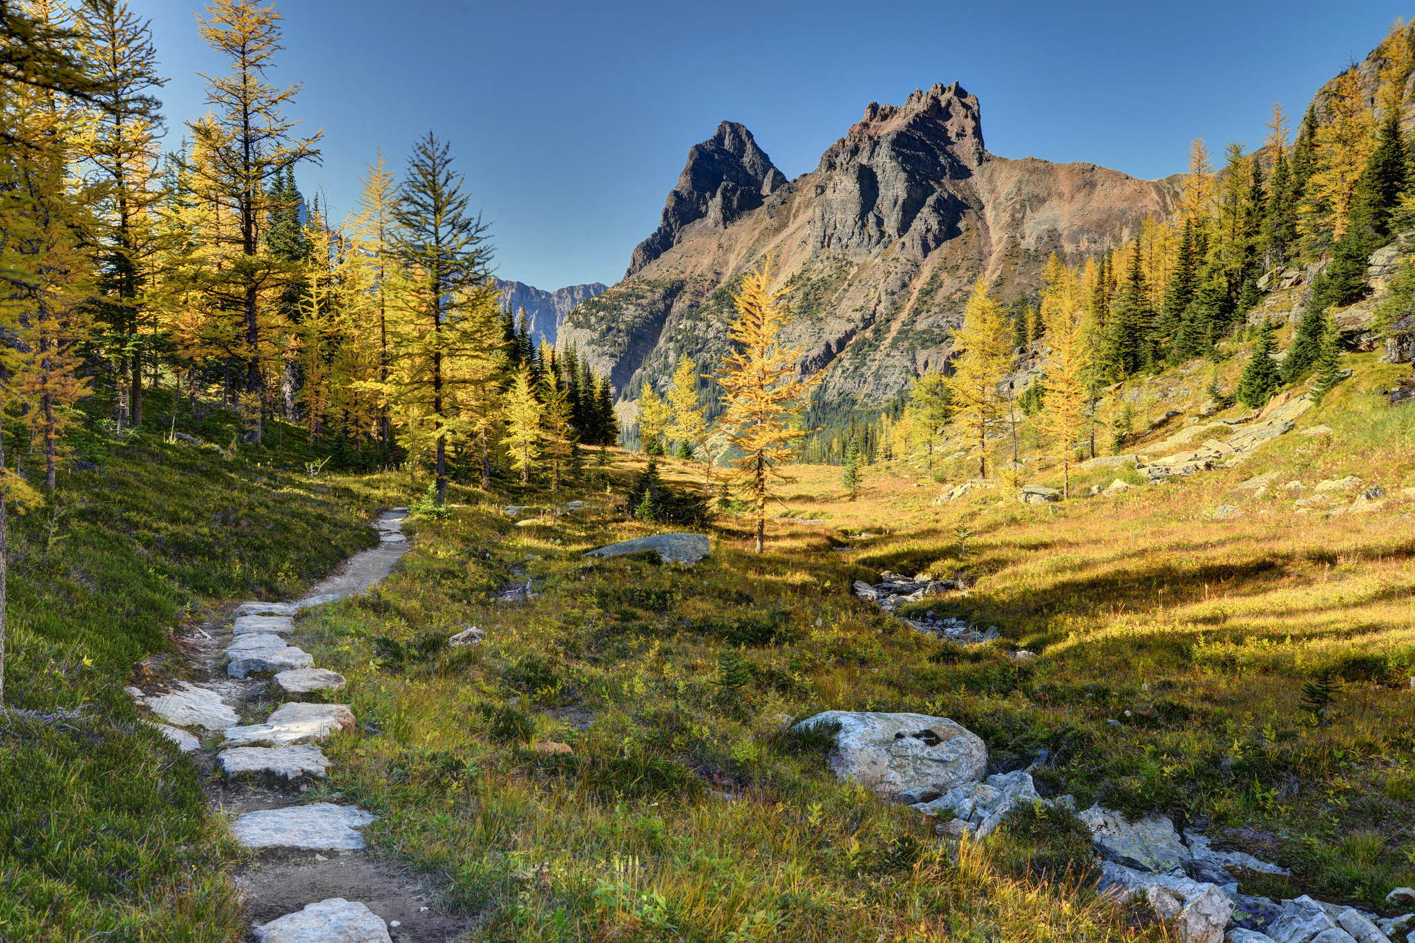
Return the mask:
<path id="1" fill-rule="evenodd" d="M 1391 886 L 1415 882 L 1415 574 L 1401 517 L 1415 502 L 1326 517 L 1296 515 L 1293 492 L 1234 489 L 1269 469 L 1309 489 L 1346 474 L 1397 496 L 1415 484 L 1415 410 L 1382 404 L 1391 370 L 1370 359 L 1302 420 L 1333 437 L 1288 435 L 1238 468 L 1119 498 L 1039 508 L 983 491 L 934 506 L 937 486 L 873 467 L 865 496 L 845 502 L 838 469 L 804 468 L 784 502 L 797 519 L 771 526 L 764 557 L 729 517 L 691 570 L 587 566 L 586 549 L 648 532 L 603 509 L 516 527 L 470 508 L 415 525 L 382 592 L 303 623 L 381 731 L 337 742 L 337 772 L 311 799 L 342 792 L 383 812 L 381 847 L 498 940 L 1159 932 L 1037 879 L 1084 868 L 1074 820 L 1027 813 L 983 850 L 938 847 L 913 813 L 838 785 L 822 744 L 778 730 L 781 714 L 908 710 L 964 722 L 1009 768 L 1050 751 L 1037 775 L 1049 793 L 1184 816 L 1293 869 L 1244 875 L 1245 892 L 1384 912 Z M 640 465 L 621 457 L 613 484 Z M 1060 484 L 1060 469 L 1034 479 Z M 603 502 L 603 485 L 567 496 Z M 1244 515 L 1211 520 L 1220 503 Z M 966 551 L 958 527 L 972 532 Z M 845 539 L 862 530 L 877 536 Z M 998 625 L 999 645 L 959 652 L 848 591 L 884 568 L 959 567 L 974 590 L 914 608 Z M 491 601 L 522 573 L 536 598 Z M 464 625 L 491 636 L 447 652 Z M 715 683 L 729 648 L 751 664 L 736 693 Z M 1041 655 L 1019 664 L 1013 648 Z M 1322 667 L 1346 681 L 1327 727 L 1298 710 Z M 570 742 L 574 758 L 521 749 L 528 734 Z"/>

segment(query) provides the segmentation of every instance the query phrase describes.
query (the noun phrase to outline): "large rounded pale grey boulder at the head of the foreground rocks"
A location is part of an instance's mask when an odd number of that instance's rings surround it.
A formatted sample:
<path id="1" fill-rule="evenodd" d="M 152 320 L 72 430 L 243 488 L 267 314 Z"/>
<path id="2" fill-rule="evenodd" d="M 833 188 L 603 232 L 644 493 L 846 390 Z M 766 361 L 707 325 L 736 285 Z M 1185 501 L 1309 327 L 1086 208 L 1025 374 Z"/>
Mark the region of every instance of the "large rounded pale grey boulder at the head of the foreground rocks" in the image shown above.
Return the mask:
<path id="1" fill-rule="evenodd" d="M 938 799 L 988 773 L 988 746 L 947 717 L 825 711 L 792 730 L 839 724 L 831 769 L 882 799 L 906 804 Z"/>

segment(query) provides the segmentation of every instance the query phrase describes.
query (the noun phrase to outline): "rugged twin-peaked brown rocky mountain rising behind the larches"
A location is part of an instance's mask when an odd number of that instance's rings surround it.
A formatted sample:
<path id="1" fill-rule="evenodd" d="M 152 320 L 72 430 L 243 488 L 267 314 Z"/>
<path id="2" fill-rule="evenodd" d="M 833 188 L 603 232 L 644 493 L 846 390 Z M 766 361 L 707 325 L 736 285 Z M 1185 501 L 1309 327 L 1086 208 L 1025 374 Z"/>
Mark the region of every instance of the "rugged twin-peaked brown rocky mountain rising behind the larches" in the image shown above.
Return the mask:
<path id="1" fill-rule="evenodd" d="M 1077 259 L 1165 218 L 1174 181 L 1095 164 L 989 154 L 978 99 L 952 85 L 870 103 L 819 165 L 787 181 L 740 124 L 695 146 L 658 229 L 610 291 L 560 328 L 621 396 L 665 389 L 682 353 L 710 370 L 727 349 L 729 290 L 771 254 L 824 396 L 882 403 L 952 352 L 979 276 L 1034 295 L 1051 252 Z"/>

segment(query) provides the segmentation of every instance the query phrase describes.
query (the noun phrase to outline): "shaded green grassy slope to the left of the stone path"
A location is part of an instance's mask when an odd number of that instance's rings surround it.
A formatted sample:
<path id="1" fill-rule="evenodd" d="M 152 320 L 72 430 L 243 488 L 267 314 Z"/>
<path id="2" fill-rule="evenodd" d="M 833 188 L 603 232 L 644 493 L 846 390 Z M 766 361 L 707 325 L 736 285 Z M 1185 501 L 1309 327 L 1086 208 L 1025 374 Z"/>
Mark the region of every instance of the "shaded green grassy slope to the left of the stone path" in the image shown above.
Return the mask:
<path id="1" fill-rule="evenodd" d="M 228 441 L 226 426 L 192 431 Z M 11 517 L 0 939 L 238 939 L 201 773 L 122 689 L 142 667 L 181 674 L 173 629 L 200 607 L 287 597 L 374 543 L 368 489 L 272 468 L 303 451 L 74 438 L 100 467 Z"/>

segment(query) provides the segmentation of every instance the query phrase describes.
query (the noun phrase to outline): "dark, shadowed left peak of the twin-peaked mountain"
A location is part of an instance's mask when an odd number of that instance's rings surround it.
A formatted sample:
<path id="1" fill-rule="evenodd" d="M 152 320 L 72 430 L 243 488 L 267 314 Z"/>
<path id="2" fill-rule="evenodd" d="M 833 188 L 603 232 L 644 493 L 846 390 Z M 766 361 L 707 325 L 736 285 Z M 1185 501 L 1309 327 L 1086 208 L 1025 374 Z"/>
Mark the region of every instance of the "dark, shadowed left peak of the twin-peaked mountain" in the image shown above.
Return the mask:
<path id="1" fill-rule="evenodd" d="M 726 228 L 785 182 L 785 174 L 746 126 L 723 122 L 716 134 L 688 148 L 688 163 L 678 185 L 668 192 L 658 229 L 634 249 L 624 277 L 633 277 L 678 245 L 688 225 L 708 219 L 710 226 Z"/>

